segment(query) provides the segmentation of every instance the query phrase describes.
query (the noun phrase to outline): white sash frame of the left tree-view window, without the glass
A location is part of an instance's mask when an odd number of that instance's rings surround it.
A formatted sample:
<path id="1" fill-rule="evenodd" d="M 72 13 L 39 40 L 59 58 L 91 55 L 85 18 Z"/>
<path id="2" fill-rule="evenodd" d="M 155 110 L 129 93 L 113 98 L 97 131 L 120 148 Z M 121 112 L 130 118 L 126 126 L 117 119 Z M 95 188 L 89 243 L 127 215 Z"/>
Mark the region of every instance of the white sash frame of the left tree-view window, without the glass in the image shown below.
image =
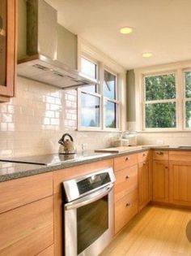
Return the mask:
<path id="1" fill-rule="evenodd" d="M 160 100 L 153 100 L 153 101 L 146 101 L 146 85 L 145 85 L 145 78 L 151 76 L 165 76 L 168 74 L 175 74 L 175 81 L 176 81 L 176 98 L 174 99 L 160 99 Z M 178 130 L 178 80 L 177 80 L 177 72 L 176 70 L 168 71 L 168 72 L 154 72 L 154 73 L 147 73 L 142 76 L 142 131 L 176 131 Z M 176 128 L 146 128 L 146 104 L 155 104 L 155 103 L 168 103 L 168 102 L 175 102 L 176 103 Z"/>

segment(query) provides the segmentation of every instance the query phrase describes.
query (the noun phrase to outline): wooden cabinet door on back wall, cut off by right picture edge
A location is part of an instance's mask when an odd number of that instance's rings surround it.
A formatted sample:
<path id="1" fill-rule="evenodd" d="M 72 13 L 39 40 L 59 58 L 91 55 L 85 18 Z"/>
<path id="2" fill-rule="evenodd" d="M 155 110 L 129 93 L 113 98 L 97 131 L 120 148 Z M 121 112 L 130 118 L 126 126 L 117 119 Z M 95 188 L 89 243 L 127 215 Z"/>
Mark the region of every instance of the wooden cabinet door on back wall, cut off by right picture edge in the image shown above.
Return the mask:
<path id="1" fill-rule="evenodd" d="M 177 205 L 191 206 L 191 164 L 170 162 L 169 199 Z"/>

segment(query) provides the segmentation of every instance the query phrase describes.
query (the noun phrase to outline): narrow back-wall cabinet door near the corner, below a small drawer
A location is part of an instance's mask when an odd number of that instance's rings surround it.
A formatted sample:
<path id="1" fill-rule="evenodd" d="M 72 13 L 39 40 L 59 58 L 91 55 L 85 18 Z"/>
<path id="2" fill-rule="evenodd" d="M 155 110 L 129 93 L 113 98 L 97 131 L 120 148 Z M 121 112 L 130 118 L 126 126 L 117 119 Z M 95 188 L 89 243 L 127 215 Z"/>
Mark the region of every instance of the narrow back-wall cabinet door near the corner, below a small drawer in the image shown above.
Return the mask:
<path id="1" fill-rule="evenodd" d="M 153 201 L 168 202 L 168 161 L 153 161 Z"/>

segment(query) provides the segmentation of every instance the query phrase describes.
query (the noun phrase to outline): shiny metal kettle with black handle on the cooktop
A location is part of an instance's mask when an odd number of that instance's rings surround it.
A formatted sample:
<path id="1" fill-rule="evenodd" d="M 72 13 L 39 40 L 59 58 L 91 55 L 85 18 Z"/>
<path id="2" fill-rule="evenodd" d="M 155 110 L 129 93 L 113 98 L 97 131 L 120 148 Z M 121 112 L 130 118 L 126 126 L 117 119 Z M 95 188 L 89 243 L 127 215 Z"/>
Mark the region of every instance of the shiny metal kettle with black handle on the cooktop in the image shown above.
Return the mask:
<path id="1" fill-rule="evenodd" d="M 74 140 L 69 133 L 63 134 L 58 143 L 61 144 L 59 154 L 75 154 Z"/>

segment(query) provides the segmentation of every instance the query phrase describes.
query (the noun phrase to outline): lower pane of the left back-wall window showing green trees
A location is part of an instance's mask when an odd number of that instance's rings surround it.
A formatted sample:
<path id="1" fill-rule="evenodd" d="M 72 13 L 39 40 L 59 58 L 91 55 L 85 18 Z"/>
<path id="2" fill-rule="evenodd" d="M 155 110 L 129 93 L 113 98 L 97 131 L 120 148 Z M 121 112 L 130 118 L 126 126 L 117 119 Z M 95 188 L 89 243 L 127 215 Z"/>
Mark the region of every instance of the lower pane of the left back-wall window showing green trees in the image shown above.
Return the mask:
<path id="1" fill-rule="evenodd" d="M 176 103 L 146 104 L 146 128 L 176 128 Z"/>

